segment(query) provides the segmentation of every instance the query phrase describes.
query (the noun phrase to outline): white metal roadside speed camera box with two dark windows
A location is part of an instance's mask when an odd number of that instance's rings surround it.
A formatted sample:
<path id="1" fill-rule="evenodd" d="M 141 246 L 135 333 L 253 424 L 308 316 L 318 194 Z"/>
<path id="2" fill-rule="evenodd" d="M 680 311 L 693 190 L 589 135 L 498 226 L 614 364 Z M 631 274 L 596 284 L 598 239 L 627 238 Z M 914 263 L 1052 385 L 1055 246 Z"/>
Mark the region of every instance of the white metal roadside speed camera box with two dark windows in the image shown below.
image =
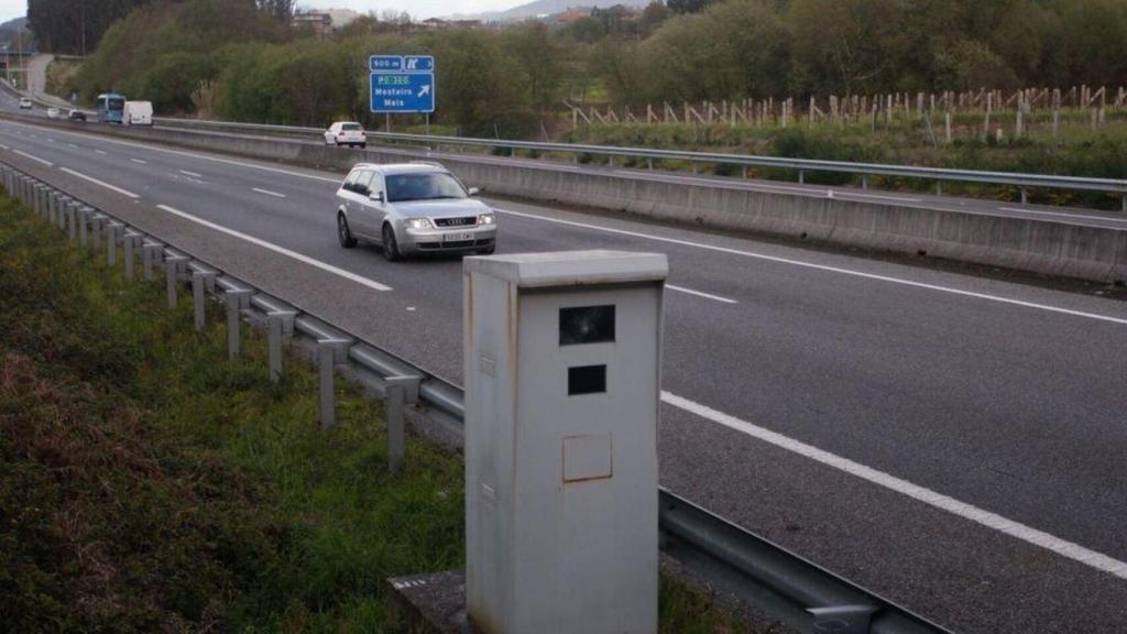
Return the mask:
<path id="1" fill-rule="evenodd" d="M 657 631 L 664 255 L 464 261 L 470 618 Z"/>

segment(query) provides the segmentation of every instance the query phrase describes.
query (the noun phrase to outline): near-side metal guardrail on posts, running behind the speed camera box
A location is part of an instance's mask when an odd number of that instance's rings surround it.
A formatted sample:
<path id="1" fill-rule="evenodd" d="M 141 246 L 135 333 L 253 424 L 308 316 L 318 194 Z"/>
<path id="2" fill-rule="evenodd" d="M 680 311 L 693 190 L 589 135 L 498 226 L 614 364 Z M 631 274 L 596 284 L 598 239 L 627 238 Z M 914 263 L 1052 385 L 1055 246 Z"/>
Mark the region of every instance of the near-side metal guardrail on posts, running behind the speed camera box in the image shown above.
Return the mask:
<path id="1" fill-rule="evenodd" d="M 326 391 L 328 398 L 332 398 L 334 368 L 338 363 L 346 363 L 357 377 L 367 379 L 369 385 L 382 389 L 385 395 L 391 394 L 391 387 L 398 381 L 409 380 L 417 387 L 417 391 L 412 389 L 407 402 L 417 403 L 421 415 L 461 434 L 464 408 L 459 386 L 345 328 L 320 319 L 299 306 L 264 293 L 252 284 L 190 256 L 186 249 L 177 247 L 170 240 L 148 235 L 123 219 L 99 211 L 2 160 L 0 184 L 9 194 L 66 231 L 72 241 L 83 247 L 89 246 L 95 252 L 105 248 L 107 264 L 124 266 L 128 280 L 135 278 L 134 266 L 139 256 L 145 279 L 153 279 L 153 268 L 159 270 L 163 265 L 171 307 L 176 306 L 178 288 L 190 283 L 197 328 L 204 325 L 205 293 L 223 300 L 228 310 L 230 354 L 238 354 L 241 320 L 267 326 L 270 331 L 268 347 L 272 378 L 275 372 L 281 372 L 281 337 L 284 332 L 293 343 L 318 346 L 322 399 L 326 398 Z M 118 257 L 119 247 L 122 257 Z M 329 377 L 327 390 L 326 373 Z M 403 393 L 398 394 L 401 398 Z M 390 407 L 391 399 L 388 400 Z M 322 400 L 322 423 L 323 407 Z M 401 408 L 401 402 L 399 407 Z M 730 571 L 739 580 L 739 595 L 745 600 L 761 597 L 763 589 L 766 589 L 787 601 L 790 608 L 809 613 L 814 632 L 950 634 L 939 625 L 664 487 L 658 488 L 658 526 L 666 536 L 663 549 L 672 551 L 675 557 L 687 551 L 696 560 L 708 561 Z"/>

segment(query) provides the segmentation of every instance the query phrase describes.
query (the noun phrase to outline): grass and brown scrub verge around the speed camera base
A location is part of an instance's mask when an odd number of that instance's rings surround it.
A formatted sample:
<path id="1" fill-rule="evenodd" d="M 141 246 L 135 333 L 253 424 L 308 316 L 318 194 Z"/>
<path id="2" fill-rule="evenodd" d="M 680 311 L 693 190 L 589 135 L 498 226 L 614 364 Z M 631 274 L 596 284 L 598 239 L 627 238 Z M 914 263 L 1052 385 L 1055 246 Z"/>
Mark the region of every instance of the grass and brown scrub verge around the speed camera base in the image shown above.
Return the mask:
<path id="1" fill-rule="evenodd" d="M 225 359 L 159 283 L 126 284 L 0 196 L 0 614 L 12 632 L 384 632 L 387 576 L 464 563 L 463 464 L 385 461 L 380 407 Z M 662 580 L 662 631 L 754 631 Z"/>

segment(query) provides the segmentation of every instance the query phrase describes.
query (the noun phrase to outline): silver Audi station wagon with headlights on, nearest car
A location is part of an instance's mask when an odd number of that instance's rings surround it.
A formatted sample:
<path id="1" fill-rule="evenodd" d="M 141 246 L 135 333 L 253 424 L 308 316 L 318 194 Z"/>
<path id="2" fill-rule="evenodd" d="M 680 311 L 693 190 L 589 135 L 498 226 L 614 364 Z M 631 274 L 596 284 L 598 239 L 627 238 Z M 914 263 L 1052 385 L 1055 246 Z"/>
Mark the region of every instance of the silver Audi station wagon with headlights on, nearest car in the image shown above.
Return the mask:
<path id="1" fill-rule="evenodd" d="M 432 252 L 488 255 L 497 217 L 477 193 L 438 164 L 362 162 L 337 190 L 337 237 L 344 248 L 358 238 L 380 244 L 392 262 Z"/>

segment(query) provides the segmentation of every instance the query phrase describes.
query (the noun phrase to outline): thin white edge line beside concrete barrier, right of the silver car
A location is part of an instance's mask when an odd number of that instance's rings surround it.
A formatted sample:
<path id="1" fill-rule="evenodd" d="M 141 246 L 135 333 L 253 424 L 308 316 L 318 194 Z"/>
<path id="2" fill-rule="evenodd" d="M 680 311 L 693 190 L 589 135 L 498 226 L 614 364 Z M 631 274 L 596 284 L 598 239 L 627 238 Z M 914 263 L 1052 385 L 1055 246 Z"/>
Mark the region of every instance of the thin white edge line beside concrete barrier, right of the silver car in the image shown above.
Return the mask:
<path id="1" fill-rule="evenodd" d="M 814 264 L 811 262 L 802 262 L 800 259 L 790 259 L 788 257 L 779 257 L 774 255 L 764 255 L 762 253 L 754 253 L 749 250 L 739 250 L 728 247 L 718 247 L 715 245 L 706 245 L 703 243 L 694 243 L 691 240 L 680 240 L 677 238 L 666 238 L 664 236 L 655 236 L 651 234 L 641 234 L 638 231 L 628 231 L 625 229 L 612 229 L 610 227 L 600 227 L 597 224 L 588 224 L 586 222 L 576 222 L 574 220 L 561 220 L 559 218 L 545 218 L 543 215 L 536 215 L 534 213 L 524 213 L 520 211 L 512 211 L 507 209 L 498 209 L 497 211 L 502 213 L 507 213 L 509 215 L 517 215 L 521 218 L 531 218 L 533 220 L 542 220 L 544 222 L 556 222 L 558 224 L 568 224 L 571 227 L 582 227 L 584 229 L 595 229 L 597 231 L 606 231 L 607 234 L 618 234 L 620 236 L 631 236 L 635 238 L 645 238 L 647 240 L 654 240 L 657 243 L 668 243 L 672 245 L 681 245 L 686 247 L 695 247 L 707 250 L 712 250 L 717 253 L 727 253 L 730 255 L 739 255 L 743 257 L 752 257 L 755 259 L 763 259 L 767 262 L 778 262 L 780 264 L 790 264 L 793 266 L 802 266 L 806 268 L 815 268 L 817 271 L 828 271 L 831 273 L 841 273 L 842 275 L 853 275 L 855 278 L 863 278 L 867 280 L 877 280 L 880 282 L 889 282 L 893 284 L 903 284 L 905 287 L 914 287 L 917 289 L 928 289 L 931 291 L 939 291 L 944 293 L 951 293 L 962 297 L 973 297 L 975 299 L 985 299 L 988 301 L 997 301 L 1001 303 L 1009 303 L 1013 306 L 1021 306 L 1024 308 L 1036 308 L 1038 310 L 1048 310 L 1049 312 L 1059 312 L 1062 315 L 1072 315 L 1073 317 L 1086 317 L 1089 319 L 1099 319 L 1101 322 L 1110 322 L 1112 324 L 1121 324 L 1127 326 L 1127 318 L 1122 317 L 1111 317 L 1110 315 L 1099 315 L 1097 312 L 1085 312 L 1083 310 L 1072 310 L 1070 308 L 1061 308 L 1057 306 L 1049 306 L 1047 303 L 1036 303 L 1032 301 L 1022 301 L 1020 299 L 1010 299 L 1000 296 L 978 293 L 974 291 L 965 291 L 962 289 L 952 289 L 951 287 L 940 287 L 937 284 L 926 284 L 924 282 L 913 282 L 912 280 L 903 280 L 900 278 L 890 278 L 888 275 L 878 275 L 876 273 L 864 273 L 862 271 L 853 271 L 850 268 L 840 268 L 837 266 L 828 266 L 825 264 Z"/>

